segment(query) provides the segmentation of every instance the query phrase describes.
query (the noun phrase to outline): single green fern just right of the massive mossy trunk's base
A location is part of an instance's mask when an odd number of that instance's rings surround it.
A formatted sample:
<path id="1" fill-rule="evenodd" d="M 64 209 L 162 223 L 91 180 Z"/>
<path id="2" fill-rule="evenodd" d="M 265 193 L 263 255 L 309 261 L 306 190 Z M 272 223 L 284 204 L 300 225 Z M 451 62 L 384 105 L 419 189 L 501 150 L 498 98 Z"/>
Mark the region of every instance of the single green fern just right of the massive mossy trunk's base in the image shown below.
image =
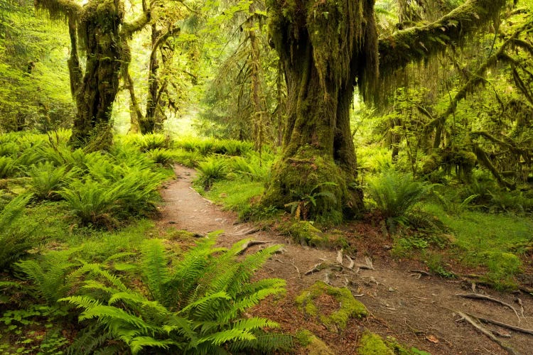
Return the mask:
<path id="1" fill-rule="evenodd" d="M 370 180 L 369 187 L 377 208 L 386 218 L 403 217 L 428 190 L 424 182 L 414 181 L 413 175 L 393 169 Z"/>

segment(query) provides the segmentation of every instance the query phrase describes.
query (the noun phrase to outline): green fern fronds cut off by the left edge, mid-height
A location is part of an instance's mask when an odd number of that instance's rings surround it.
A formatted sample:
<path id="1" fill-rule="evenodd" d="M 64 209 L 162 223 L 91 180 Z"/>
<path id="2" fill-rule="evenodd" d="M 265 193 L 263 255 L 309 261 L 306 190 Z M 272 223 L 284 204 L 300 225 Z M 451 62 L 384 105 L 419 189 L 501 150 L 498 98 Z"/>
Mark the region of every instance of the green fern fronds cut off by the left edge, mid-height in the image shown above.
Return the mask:
<path id="1" fill-rule="evenodd" d="M 0 212 L 0 270 L 9 268 L 33 247 L 31 224 L 24 222 L 23 212 L 31 195 L 19 195 Z"/>

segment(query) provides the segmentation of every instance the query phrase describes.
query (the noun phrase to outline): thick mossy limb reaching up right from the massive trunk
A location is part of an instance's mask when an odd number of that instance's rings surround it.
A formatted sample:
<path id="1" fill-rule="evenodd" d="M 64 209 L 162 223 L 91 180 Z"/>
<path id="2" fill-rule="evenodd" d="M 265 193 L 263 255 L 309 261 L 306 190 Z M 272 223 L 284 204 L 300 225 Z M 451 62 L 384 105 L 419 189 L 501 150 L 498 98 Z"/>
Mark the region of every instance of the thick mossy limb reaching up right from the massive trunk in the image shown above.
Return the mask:
<path id="1" fill-rule="evenodd" d="M 490 21 L 505 0 L 468 0 L 426 26 L 411 27 L 379 40 L 379 72 L 385 75 L 410 62 L 428 59 Z"/>

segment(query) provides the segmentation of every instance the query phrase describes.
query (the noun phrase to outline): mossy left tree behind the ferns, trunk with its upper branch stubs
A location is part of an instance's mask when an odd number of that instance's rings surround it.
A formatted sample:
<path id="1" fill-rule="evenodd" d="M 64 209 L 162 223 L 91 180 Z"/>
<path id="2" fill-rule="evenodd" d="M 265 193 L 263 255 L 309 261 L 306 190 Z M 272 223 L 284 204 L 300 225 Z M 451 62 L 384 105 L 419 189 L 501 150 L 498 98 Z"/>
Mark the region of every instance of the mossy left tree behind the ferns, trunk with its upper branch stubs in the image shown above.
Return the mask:
<path id="1" fill-rule="evenodd" d="M 111 113 L 119 89 L 119 74 L 127 62 L 127 40 L 149 21 L 143 13 L 134 23 L 124 23 L 122 0 L 35 0 L 37 9 L 53 20 L 68 20 L 71 56 L 68 62 L 77 115 L 70 143 L 88 151 L 107 149 L 112 143 Z M 80 71 L 77 51 L 85 53 Z"/>

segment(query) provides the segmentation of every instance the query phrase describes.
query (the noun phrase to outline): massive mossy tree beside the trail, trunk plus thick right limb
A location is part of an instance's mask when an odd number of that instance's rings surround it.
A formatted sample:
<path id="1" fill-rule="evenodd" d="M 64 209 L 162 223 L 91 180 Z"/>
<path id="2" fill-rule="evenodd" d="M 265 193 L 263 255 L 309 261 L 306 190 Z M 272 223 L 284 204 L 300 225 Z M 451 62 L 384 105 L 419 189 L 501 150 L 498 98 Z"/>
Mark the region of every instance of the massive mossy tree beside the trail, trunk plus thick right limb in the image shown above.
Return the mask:
<path id="1" fill-rule="evenodd" d="M 271 43 L 286 76 L 288 117 L 283 156 L 262 202 L 303 202 L 311 206 L 309 217 L 335 221 L 363 209 L 349 120 L 353 86 L 365 100 L 379 102 L 380 93 L 394 85 L 387 77 L 461 43 L 496 18 L 505 0 L 468 0 L 438 21 L 398 31 L 379 45 L 373 0 L 267 4 Z"/>

